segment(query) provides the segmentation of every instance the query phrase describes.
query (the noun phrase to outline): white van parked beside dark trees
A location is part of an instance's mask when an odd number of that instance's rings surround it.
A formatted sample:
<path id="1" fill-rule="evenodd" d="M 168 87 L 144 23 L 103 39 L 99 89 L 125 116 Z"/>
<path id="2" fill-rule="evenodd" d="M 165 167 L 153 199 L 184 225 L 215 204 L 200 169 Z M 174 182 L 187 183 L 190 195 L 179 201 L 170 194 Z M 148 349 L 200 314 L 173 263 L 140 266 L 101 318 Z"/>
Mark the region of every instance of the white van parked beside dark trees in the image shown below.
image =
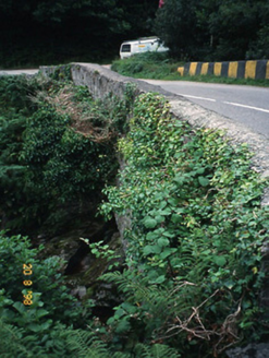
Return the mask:
<path id="1" fill-rule="evenodd" d="M 121 59 L 125 59 L 135 53 L 146 51 L 163 52 L 168 50 L 169 48 L 164 47 L 158 37 L 142 37 L 122 43 L 120 48 L 120 57 Z"/>

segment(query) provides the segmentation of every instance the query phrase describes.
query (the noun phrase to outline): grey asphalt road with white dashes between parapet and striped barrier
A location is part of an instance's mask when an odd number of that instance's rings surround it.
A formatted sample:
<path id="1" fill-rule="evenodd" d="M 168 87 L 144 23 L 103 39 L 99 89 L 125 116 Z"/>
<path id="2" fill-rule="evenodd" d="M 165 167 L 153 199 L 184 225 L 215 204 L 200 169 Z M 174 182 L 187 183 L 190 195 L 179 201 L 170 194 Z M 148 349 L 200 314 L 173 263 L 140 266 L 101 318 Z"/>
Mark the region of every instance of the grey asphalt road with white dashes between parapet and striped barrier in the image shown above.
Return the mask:
<path id="1" fill-rule="evenodd" d="M 185 81 L 143 81 L 244 123 L 269 139 L 269 88 Z"/>

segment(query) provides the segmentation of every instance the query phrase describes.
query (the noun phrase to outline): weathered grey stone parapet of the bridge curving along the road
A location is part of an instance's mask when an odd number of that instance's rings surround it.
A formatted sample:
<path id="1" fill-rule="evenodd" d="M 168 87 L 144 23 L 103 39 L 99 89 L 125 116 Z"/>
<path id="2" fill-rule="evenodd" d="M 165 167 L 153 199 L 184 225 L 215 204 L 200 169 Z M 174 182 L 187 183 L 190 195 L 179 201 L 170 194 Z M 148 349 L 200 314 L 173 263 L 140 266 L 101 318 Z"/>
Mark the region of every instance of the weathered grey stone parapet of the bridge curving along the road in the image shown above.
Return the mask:
<path id="1" fill-rule="evenodd" d="M 40 72 L 45 75 L 52 73 L 53 70 L 53 68 L 40 68 Z M 167 92 L 160 86 L 120 75 L 99 64 L 72 63 L 71 72 L 74 83 L 76 85 L 86 85 L 96 98 L 105 98 L 109 94 L 122 97 L 127 83 L 136 84 L 137 95 L 147 92 L 160 93 L 167 97 L 171 105 L 171 114 L 176 118 L 188 121 L 194 128 L 224 130 L 227 139 L 233 145 L 248 144 L 249 150 L 254 153 L 252 158 L 253 169 L 260 172 L 262 177 L 269 177 L 269 141 L 265 136 L 252 132 L 245 126 L 205 109 L 182 96 Z M 265 191 L 261 204 L 269 205 L 269 188 Z M 269 242 L 265 242 L 262 252 L 264 267 L 267 267 L 265 270 L 268 276 L 266 284 L 269 286 Z M 265 293 L 261 294 L 261 305 L 269 308 L 269 296 Z"/>

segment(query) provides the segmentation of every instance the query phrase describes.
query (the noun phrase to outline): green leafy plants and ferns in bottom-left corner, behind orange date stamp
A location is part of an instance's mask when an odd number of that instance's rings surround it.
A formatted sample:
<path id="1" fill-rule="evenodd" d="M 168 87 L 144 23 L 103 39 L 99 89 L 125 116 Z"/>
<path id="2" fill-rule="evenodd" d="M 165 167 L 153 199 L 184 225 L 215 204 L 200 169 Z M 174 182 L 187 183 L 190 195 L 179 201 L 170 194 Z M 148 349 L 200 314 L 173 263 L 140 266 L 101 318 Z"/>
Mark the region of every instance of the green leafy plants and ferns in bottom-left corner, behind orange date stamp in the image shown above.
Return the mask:
<path id="1" fill-rule="evenodd" d="M 41 249 L 30 249 L 29 240 L 20 235 L 0 234 L 1 357 L 66 357 L 71 351 L 64 346 L 64 329 L 83 322 L 83 308 L 68 294 L 58 273 L 59 259 L 40 261 Z M 23 275 L 24 264 L 32 265 L 32 275 Z M 25 279 L 33 282 L 30 288 L 23 284 Z M 23 303 L 29 302 L 29 291 L 30 306 Z"/>

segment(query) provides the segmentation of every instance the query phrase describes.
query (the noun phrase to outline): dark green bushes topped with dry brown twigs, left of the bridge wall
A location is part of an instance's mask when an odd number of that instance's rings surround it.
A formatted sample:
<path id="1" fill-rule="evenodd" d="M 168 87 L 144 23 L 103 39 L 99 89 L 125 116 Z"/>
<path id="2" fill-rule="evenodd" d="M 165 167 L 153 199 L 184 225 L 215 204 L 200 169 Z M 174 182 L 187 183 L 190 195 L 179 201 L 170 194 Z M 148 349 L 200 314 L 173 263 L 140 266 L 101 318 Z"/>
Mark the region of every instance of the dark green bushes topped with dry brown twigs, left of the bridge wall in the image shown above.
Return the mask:
<path id="1" fill-rule="evenodd" d="M 117 169 L 121 104 L 108 98 L 103 106 L 66 81 L 23 76 L 1 77 L 0 102 L 3 227 L 52 234 L 95 212 Z"/>

